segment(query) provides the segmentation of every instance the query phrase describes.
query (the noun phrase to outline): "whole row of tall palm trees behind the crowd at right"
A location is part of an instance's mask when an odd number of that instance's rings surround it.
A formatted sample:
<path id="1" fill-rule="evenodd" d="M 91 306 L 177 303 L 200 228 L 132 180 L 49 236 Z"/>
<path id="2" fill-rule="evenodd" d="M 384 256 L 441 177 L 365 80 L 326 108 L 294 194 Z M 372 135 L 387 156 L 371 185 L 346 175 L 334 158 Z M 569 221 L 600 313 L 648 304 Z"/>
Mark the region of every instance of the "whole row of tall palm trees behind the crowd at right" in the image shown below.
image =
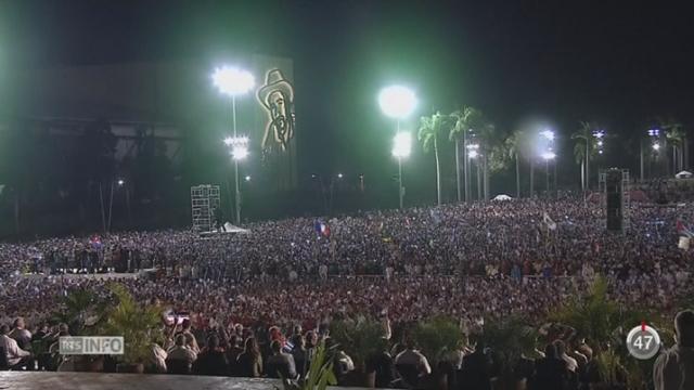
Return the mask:
<path id="1" fill-rule="evenodd" d="M 689 167 L 689 142 L 681 122 L 672 118 L 658 118 L 652 128 L 660 130 L 664 143 L 664 154 L 667 156 L 667 146 L 671 146 L 672 173 L 677 173 Z M 441 204 L 441 165 L 439 152 L 444 145 L 441 142 L 448 138 L 455 151 L 455 186 L 458 200 L 471 200 L 470 179 L 471 159 L 475 160 L 477 168 L 478 198 L 489 199 L 489 174 L 515 167 L 516 196 L 520 196 L 520 161 L 526 159 L 530 167 L 530 195 L 534 194 L 536 153 L 532 152 L 534 136 L 524 130 L 515 130 L 511 133 L 500 132 L 493 122 L 478 108 L 464 106 L 451 114 L 436 112 L 430 116 L 420 119 L 417 139 L 422 143 L 424 152 L 434 152 L 436 162 L 436 198 Z M 645 135 L 645 131 L 644 131 Z M 578 129 L 570 135 L 575 141 L 574 156 L 580 166 L 581 188 L 590 190 L 590 166 L 600 154 L 603 153 L 603 143 L 608 134 L 596 122 L 581 121 Z M 651 147 L 646 147 L 651 153 Z M 641 152 L 641 179 L 643 174 L 642 143 Z M 657 157 L 657 156 L 656 156 Z M 668 167 L 669 167 L 668 162 Z M 461 168 L 463 172 L 461 172 Z M 669 171 L 669 169 L 668 169 Z M 462 178 L 462 183 L 461 183 Z"/>

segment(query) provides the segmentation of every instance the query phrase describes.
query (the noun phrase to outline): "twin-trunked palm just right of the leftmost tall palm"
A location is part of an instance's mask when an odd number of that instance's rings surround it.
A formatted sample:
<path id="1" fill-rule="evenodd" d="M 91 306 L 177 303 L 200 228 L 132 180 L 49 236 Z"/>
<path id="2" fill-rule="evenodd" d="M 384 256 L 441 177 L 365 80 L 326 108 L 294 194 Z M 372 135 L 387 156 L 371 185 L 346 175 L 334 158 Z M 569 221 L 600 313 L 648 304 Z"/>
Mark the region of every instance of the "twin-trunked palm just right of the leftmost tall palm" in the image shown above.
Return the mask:
<path id="1" fill-rule="evenodd" d="M 465 106 L 462 109 L 453 112 L 450 117 L 451 120 L 454 121 L 454 125 L 449 132 L 449 140 L 455 143 L 455 183 L 458 188 L 458 200 L 461 200 L 460 148 L 462 141 L 465 202 L 467 202 L 470 199 L 467 183 L 467 133 L 484 127 L 485 118 L 481 110 L 470 106 Z"/>

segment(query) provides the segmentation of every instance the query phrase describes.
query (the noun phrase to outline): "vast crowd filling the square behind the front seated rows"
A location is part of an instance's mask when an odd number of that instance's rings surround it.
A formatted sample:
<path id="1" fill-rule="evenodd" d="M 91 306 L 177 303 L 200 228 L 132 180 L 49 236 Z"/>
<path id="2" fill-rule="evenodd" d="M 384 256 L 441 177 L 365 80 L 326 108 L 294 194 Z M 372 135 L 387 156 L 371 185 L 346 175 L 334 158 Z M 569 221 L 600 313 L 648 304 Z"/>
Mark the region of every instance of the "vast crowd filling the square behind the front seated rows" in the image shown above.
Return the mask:
<path id="1" fill-rule="evenodd" d="M 441 314 L 461 324 L 540 318 L 584 292 L 597 274 L 611 298 L 672 314 L 692 294 L 694 262 L 678 238 L 693 214 L 689 204 L 640 204 L 629 209 L 628 232 L 609 233 L 600 205 L 566 196 L 258 222 L 244 226 L 249 233 L 211 237 L 121 232 L 0 244 L 0 324 L 23 317 L 36 334 L 70 290 L 99 292 L 108 283 L 65 273 L 156 269 L 155 277 L 119 282 L 140 302 L 189 313 L 200 340 L 183 332 L 169 339 L 168 353 L 194 372 L 219 363 L 219 354 L 208 356 L 214 351 L 226 351 L 226 367 L 230 353 L 245 353 L 243 372 L 259 374 L 250 369 L 260 359 L 256 341 L 239 327 L 277 326 L 288 339 L 296 327 L 319 329 L 358 315 L 394 327 Z M 201 336 L 217 329 L 223 337 Z M 288 361 L 284 343 L 267 347 L 264 358 Z M 204 354 L 218 362 L 195 365 Z"/>

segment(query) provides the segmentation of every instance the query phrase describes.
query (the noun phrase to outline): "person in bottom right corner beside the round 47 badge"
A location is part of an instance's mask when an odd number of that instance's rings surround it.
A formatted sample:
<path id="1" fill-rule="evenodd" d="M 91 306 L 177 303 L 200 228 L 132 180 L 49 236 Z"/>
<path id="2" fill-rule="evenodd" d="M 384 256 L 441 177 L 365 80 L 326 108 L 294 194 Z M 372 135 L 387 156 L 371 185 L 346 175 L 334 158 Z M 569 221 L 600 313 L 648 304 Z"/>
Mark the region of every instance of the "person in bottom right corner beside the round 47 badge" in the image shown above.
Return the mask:
<path id="1" fill-rule="evenodd" d="M 663 352 L 653 366 L 656 390 L 694 389 L 694 311 L 674 317 L 677 344 Z"/>

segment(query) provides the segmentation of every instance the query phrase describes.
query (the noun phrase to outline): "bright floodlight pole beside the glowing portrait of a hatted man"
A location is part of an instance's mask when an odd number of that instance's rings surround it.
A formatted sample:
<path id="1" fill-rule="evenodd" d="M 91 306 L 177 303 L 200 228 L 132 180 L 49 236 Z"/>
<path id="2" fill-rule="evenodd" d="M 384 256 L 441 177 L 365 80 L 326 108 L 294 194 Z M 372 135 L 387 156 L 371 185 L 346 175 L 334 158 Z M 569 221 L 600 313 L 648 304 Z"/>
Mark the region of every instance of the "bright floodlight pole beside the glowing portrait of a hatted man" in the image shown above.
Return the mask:
<path id="1" fill-rule="evenodd" d="M 235 213 L 236 225 L 241 224 L 241 191 L 239 190 L 239 160 L 246 158 L 248 155 L 248 139 L 237 136 L 236 133 L 236 96 L 248 92 L 255 84 L 253 75 L 246 70 L 222 66 L 213 73 L 213 82 L 219 92 L 231 96 L 231 121 L 233 138 L 224 140 L 227 146 L 232 147 L 232 156 L 234 159 L 234 182 L 235 182 Z M 229 140 L 230 143 L 227 141 Z M 245 140 L 245 143 L 240 142 Z M 234 143 L 235 142 L 235 143 Z M 243 143 L 243 145 L 242 145 Z"/>

